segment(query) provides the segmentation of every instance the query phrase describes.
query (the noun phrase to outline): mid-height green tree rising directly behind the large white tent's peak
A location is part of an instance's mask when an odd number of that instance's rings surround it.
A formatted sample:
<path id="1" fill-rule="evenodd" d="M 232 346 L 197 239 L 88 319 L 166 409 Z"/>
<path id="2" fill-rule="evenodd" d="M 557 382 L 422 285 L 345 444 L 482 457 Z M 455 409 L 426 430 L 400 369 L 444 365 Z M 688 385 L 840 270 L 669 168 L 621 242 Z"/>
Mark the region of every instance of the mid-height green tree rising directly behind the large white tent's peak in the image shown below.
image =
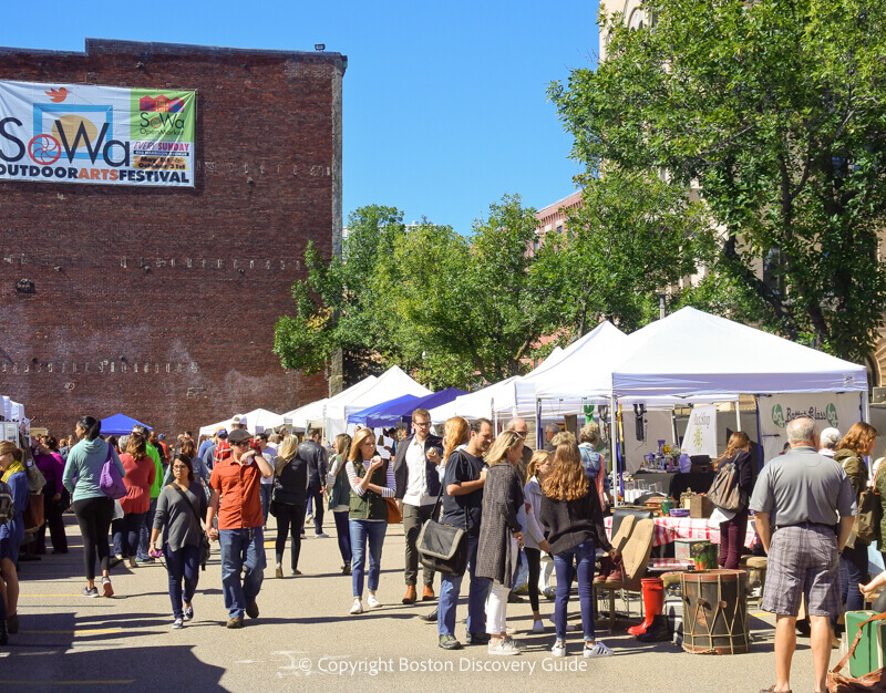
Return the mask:
<path id="1" fill-rule="evenodd" d="M 713 260 L 710 217 L 684 187 L 649 170 L 615 169 L 583 183 L 583 204 L 563 234 L 547 234 L 534 267 L 549 282 L 552 331 L 563 325 L 564 337 L 578 337 L 600 320 L 633 331 L 658 317 L 658 292 Z M 701 299 L 691 289 L 673 300 L 690 293 Z"/>

